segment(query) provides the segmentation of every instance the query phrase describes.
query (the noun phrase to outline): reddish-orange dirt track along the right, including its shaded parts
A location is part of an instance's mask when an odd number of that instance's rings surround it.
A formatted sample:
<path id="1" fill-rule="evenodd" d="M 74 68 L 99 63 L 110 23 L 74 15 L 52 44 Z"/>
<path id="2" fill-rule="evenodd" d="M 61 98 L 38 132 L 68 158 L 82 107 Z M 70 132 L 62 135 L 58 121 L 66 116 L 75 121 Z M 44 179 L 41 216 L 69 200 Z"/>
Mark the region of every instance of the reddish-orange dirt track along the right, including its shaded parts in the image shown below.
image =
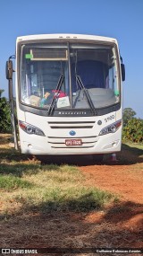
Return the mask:
<path id="1" fill-rule="evenodd" d="M 90 213 L 87 223 L 105 224 L 105 234 L 113 242 L 118 236 L 119 247 L 143 247 L 143 159 L 142 151 L 137 152 L 124 146 L 117 154 L 117 161 L 110 156 L 102 165 L 80 166 L 87 176 L 87 182 L 102 190 L 118 195 L 120 202 L 108 206 L 104 212 Z M 109 226 L 112 232 L 109 232 Z M 112 234 L 112 235 L 110 235 Z"/>

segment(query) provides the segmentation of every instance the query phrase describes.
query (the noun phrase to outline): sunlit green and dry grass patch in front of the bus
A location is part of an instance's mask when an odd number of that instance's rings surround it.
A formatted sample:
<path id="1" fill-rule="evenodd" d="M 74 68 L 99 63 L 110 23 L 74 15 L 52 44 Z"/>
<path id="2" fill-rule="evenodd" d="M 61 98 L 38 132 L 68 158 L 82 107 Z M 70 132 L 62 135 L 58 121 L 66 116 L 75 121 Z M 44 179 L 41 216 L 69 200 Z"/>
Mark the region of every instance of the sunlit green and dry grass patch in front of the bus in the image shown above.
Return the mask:
<path id="1" fill-rule="evenodd" d="M 86 183 L 76 166 L 46 164 L 0 146 L 0 216 L 6 213 L 97 210 L 116 199 Z M 12 157 L 13 156 L 13 157 Z"/>

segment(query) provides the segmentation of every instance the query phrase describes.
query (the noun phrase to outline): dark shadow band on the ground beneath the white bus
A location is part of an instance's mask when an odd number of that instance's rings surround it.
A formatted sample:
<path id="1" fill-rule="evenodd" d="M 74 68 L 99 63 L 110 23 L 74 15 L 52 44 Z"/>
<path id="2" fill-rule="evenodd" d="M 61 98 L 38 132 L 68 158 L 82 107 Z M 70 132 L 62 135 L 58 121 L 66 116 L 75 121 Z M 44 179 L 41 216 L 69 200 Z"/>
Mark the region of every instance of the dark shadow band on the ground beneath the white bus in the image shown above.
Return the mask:
<path id="1" fill-rule="evenodd" d="M 46 155 L 37 156 L 29 154 L 21 154 L 21 152 L 13 148 L 0 148 L 0 160 L 11 161 L 40 161 L 41 164 L 71 164 L 77 166 L 87 166 L 95 164 L 106 165 L 130 165 L 135 163 L 143 163 L 143 150 L 137 147 L 122 144 L 122 151 L 116 154 L 116 160 L 112 161 L 112 154 L 105 154 L 102 162 L 93 158 L 92 155 Z"/>

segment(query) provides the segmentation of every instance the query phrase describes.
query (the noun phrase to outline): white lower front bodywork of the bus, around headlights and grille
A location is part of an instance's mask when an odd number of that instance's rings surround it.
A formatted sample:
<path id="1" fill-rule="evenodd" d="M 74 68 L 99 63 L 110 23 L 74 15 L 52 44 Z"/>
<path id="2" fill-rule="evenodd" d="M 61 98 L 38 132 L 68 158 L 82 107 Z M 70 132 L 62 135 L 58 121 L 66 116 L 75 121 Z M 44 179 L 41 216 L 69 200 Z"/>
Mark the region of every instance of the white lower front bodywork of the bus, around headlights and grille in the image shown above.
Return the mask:
<path id="1" fill-rule="evenodd" d="M 23 154 L 105 154 L 121 150 L 122 126 L 115 133 L 99 135 L 103 128 L 116 122 L 116 112 L 101 117 L 66 118 L 63 121 L 61 118 L 40 117 L 26 112 L 23 121 L 45 134 L 45 137 L 29 135 L 20 128 Z M 72 140 L 80 141 L 81 145 L 71 145 Z"/>

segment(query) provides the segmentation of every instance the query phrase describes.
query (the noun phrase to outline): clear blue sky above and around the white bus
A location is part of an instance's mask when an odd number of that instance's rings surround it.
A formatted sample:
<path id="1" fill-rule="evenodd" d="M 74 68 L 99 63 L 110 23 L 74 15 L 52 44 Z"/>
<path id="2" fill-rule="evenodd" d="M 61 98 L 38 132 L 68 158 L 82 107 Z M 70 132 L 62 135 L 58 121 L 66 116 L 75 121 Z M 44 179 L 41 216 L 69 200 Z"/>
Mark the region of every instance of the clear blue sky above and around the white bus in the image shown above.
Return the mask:
<path id="1" fill-rule="evenodd" d="M 0 89 L 18 36 L 80 33 L 118 40 L 126 68 L 123 108 L 143 119 L 143 0 L 0 0 Z"/>

